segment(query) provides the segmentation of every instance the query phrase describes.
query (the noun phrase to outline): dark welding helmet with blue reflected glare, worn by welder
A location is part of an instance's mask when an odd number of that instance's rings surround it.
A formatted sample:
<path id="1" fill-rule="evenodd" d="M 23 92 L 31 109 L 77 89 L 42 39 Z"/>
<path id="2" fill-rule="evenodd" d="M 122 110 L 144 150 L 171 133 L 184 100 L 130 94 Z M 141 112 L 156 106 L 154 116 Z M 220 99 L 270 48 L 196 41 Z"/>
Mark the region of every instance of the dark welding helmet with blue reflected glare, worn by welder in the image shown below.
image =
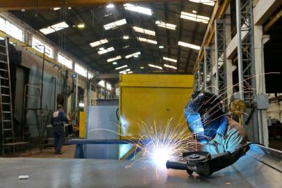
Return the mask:
<path id="1" fill-rule="evenodd" d="M 184 113 L 190 132 L 199 142 L 208 142 L 217 132 L 224 134 L 227 120 L 219 96 L 204 91 L 194 91 Z"/>

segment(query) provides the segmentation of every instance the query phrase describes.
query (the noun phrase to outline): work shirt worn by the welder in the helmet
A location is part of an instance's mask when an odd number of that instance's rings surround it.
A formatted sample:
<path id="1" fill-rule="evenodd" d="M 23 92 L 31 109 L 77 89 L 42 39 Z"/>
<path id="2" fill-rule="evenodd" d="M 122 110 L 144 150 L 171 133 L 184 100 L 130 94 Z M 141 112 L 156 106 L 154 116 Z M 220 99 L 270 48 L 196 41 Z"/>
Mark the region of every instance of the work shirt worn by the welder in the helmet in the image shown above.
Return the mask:
<path id="1" fill-rule="evenodd" d="M 248 137 L 244 127 L 231 118 L 227 118 L 225 130 L 215 134 L 215 137 L 202 146 L 202 150 L 215 155 L 222 152 L 233 151 L 240 144 L 247 143 Z"/>

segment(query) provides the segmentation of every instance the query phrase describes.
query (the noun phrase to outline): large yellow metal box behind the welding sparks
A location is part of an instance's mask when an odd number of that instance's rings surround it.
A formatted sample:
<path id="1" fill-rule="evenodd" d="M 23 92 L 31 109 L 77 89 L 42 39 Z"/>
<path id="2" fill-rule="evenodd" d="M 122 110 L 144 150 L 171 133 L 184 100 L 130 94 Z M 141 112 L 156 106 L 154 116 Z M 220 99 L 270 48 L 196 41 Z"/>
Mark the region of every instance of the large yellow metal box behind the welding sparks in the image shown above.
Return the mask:
<path id="1" fill-rule="evenodd" d="M 193 91 L 192 75 L 120 75 L 119 116 L 121 139 L 140 138 L 138 123 L 165 127 L 179 123 Z M 187 129 L 185 118 L 183 128 Z M 126 137 L 124 137 L 126 136 Z"/>

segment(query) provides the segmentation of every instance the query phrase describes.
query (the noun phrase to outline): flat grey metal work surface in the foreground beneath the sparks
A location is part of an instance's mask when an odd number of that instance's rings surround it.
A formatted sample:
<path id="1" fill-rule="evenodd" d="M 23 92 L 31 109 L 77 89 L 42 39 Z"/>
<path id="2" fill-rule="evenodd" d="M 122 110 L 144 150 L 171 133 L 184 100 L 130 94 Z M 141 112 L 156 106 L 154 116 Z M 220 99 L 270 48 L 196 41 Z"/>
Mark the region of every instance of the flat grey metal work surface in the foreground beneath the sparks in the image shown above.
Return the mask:
<path id="1" fill-rule="evenodd" d="M 278 152 L 279 153 L 279 152 Z M 281 154 L 281 153 L 280 153 Z M 0 187 L 282 187 L 280 158 L 251 149 L 210 177 L 157 168 L 152 162 L 110 159 L 0 158 Z M 29 175 L 28 180 L 18 180 Z"/>

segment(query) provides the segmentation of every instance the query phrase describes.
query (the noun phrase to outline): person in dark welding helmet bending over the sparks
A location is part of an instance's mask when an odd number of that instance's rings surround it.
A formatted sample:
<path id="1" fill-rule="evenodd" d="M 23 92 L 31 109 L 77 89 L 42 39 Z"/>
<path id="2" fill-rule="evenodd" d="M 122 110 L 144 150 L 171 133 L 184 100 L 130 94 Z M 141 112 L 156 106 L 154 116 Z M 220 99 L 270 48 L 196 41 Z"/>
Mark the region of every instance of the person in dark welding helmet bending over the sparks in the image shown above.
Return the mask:
<path id="1" fill-rule="evenodd" d="M 224 113 L 218 95 L 194 91 L 184 109 L 190 132 L 201 143 L 202 150 L 215 155 L 233 151 L 247 143 L 244 127 Z"/>

